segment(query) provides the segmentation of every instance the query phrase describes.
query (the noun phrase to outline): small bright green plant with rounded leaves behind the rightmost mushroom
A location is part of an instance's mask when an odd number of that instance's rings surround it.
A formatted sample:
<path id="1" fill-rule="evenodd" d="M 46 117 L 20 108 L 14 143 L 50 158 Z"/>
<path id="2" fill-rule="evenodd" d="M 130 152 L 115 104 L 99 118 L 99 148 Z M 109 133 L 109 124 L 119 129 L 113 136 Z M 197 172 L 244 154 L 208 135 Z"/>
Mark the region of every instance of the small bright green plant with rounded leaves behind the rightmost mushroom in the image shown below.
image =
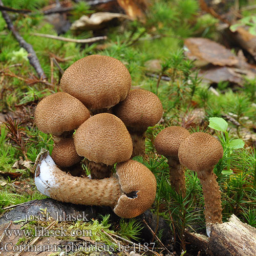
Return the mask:
<path id="1" fill-rule="evenodd" d="M 228 123 L 221 117 L 210 117 L 208 126 L 216 131 L 221 132 L 221 134 L 217 134 L 220 141 L 222 142 L 224 154 L 227 154 L 227 169 L 222 170 L 222 174 L 230 175 L 233 173 L 232 170 L 230 170 L 230 155 L 232 153 L 232 150 L 243 148 L 244 141 L 241 139 L 230 140 L 229 134 L 227 132 Z"/>

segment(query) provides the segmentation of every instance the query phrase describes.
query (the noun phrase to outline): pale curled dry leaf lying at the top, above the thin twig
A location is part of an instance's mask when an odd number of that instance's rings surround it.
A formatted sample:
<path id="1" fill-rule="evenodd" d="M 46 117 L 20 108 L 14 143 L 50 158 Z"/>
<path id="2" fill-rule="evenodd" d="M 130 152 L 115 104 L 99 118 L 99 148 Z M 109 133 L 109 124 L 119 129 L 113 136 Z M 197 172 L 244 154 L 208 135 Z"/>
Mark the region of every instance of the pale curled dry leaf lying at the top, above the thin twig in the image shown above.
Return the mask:
<path id="1" fill-rule="evenodd" d="M 71 30 L 97 30 L 102 28 L 104 23 L 109 22 L 113 18 L 130 19 L 129 16 L 121 13 L 97 12 L 90 17 L 85 15 L 81 16 L 71 25 Z"/>

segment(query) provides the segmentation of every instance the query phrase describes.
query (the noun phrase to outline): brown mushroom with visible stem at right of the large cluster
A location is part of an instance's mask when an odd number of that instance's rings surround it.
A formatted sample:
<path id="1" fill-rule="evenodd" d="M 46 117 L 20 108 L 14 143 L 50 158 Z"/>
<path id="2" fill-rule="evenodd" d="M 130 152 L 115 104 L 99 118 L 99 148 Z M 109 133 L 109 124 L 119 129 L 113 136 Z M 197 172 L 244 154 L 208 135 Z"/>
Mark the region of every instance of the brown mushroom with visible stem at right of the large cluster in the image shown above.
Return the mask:
<path id="1" fill-rule="evenodd" d="M 162 117 L 163 106 L 159 98 L 146 90 L 132 90 L 125 100 L 114 106 L 113 113 L 126 125 L 133 139 L 133 155 L 145 155 L 145 132 Z"/>

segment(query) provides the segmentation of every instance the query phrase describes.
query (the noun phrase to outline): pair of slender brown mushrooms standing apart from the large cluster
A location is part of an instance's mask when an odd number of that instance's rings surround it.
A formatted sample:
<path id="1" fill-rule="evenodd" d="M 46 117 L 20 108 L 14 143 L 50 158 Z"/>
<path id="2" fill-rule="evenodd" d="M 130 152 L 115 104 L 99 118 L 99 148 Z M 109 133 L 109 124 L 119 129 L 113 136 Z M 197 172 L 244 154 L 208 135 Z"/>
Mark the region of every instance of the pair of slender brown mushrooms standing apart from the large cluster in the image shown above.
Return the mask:
<path id="1" fill-rule="evenodd" d="M 183 127 L 170 126 L 157 135 L 155 148 L 167 158 L 170 183 L 183 197 L 186 191 L 184 167 L 197 172 L 204 195 L 206 233 L 210 236 L 210 224 L 222 223 L 220 187 L 213 172 L 223 157 L 221 143 L 210 134 L 189 134 Z"/>

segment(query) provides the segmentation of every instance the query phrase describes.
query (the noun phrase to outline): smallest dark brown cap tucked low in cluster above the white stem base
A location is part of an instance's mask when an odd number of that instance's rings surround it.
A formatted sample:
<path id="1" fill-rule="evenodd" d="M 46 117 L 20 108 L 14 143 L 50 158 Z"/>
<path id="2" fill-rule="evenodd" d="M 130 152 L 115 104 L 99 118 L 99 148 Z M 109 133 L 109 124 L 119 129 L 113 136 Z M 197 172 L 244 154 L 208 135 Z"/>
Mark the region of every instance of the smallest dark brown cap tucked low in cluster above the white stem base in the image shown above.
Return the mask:
<path id="1" fill-rule="evenodd" d="M 52 159 L 62 167 L 70 167 L 82 160 L 78 156 L 73 138 L 63 138 L 55 144 L 52 150 Z"/>

